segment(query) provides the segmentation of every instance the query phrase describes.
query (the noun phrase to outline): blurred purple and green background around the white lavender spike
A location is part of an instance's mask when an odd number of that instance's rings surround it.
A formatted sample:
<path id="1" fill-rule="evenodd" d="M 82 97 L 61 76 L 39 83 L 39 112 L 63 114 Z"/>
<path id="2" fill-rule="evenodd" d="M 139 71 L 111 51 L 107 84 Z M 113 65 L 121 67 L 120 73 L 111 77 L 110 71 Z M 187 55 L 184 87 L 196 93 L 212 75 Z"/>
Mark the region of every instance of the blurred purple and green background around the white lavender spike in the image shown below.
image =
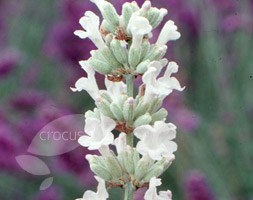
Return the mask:
<path id="1" fill-rule="evenodd" d="M 111 2 L 120 12 L 126 1 Z M 177 77 L 186 86 L 164 102 L 179 146 L 164 189 L 180 200 L 252 200 L 253 1 L 152 3 L 167 8 L 166 20 L 179 27 L 182 38 L 169 44 L 167 57 L 179 63 Z M 45 191 L 39 186 L 46 177 L 15 161 L 47 123 L 94 107 L 86 93 L 69 89 L 85 76 L 78 61 L 95 48 L 73 35 L 86 10 L 98 13 L 87 0 L 0 0 L 1 200 L 75 199 L 96 187 L 82 147 L 42 159 L 54 175 Z M 111 192 L 112 199 L 122 195 Z"/>

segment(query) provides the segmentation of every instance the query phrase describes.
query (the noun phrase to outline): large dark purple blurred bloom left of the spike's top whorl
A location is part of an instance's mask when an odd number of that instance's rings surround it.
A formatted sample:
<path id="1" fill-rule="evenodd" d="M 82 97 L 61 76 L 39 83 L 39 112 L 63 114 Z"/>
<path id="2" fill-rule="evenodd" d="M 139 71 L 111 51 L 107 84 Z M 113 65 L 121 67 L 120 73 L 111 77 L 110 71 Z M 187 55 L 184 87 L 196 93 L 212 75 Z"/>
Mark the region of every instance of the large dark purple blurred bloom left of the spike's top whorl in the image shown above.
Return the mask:
<path id="1" fill-rule="evenodd" d="M 93 5 L 89 1 L 64 0 L 60 2 L 62 18 L 52 28 L 45 44 L 45 52 L 51 57 L 58 57 L 76 67 L 78 61 L 87 59 L 94 45 L 88 40 L 80 40 L 73 32 L 80 28 L 79 19 Z"/>

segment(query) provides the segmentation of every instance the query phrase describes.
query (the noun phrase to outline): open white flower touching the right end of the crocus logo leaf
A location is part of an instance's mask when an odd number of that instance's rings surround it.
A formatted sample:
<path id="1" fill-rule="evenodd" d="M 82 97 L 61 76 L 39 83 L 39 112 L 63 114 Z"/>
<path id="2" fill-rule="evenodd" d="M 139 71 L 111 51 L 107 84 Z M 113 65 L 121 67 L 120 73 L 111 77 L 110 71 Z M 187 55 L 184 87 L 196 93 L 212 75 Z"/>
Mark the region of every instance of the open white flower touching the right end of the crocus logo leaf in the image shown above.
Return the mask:
<path id="1" fill-rule="evenodd" d="M 89 150 L 100 149 L 113 143 L 114 136 L 112 130 L 116 123 L 109 117 L 101 114 L 100 120 L 97 118 L 86 118 L 85 133 L 78 139 L 80 145 L 88 147 Z"/>

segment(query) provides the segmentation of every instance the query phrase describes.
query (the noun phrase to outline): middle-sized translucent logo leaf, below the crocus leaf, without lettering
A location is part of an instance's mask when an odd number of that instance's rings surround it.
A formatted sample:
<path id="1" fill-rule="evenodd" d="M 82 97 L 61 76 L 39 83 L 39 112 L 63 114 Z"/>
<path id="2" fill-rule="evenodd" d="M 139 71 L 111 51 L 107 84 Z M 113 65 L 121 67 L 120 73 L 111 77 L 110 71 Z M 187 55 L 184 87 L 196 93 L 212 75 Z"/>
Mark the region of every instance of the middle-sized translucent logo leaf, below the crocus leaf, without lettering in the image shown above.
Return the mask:
<path id="1" fill-rule="evenodd" d="M 50 174 L 50 170 L 46 163 L 41 159 L 30 156 L 30 155 L 20 155 L 16 156 L 16 161 L 20 167 L 33 175 L 47 175 Z"/>

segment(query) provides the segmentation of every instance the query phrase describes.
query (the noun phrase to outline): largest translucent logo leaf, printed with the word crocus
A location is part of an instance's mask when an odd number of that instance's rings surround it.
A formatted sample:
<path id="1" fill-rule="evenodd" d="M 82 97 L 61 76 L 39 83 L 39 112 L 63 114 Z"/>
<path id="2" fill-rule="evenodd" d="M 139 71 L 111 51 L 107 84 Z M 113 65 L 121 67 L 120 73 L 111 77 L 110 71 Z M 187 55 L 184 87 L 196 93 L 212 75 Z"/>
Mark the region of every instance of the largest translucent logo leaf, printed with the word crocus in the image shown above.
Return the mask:
<path id="1" fill-rule="evenodd" d="M 84 115 L 67 115 L 44 126 L 33 138 L 28 152 L 40 156 L 57 156 L 79 146 L 84 135 Z"/>

